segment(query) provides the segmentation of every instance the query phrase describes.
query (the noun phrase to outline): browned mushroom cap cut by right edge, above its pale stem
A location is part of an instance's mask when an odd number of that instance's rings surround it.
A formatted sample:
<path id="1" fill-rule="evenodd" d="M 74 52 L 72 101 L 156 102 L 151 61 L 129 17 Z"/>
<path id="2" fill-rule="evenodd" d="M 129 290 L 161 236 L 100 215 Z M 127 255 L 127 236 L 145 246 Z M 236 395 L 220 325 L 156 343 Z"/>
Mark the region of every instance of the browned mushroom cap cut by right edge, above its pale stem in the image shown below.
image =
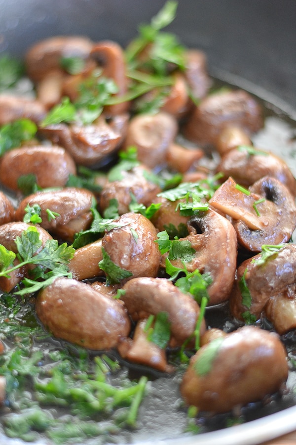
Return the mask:
<path id="1" fill-rule="evenodd" d="M 275 248 L 266 261 L 261 258 L 258 254 L 237 269 L 229 305 L 231 313 L 242 321 L 250 316 L 255 321 L 259 319 L 270 297 L 286 292 L 287 286 L 296 283 L 295 244 Z M 246 293 L 247 298 L 243 296 Z"/>

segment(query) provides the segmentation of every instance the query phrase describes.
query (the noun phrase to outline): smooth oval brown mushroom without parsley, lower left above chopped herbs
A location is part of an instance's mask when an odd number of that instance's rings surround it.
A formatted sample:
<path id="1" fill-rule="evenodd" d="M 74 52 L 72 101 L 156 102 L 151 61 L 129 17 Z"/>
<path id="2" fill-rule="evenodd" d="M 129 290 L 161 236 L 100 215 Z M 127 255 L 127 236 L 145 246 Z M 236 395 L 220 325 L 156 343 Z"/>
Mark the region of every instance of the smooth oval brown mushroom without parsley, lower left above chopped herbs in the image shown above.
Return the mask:
<path id="1" fill-rule="evenodd" d="M 39 292 L 36 313 L 55 337 L 92 350 L 115 348 L 131 329 L 123 305 L 70 278 L 56 278 Z"/>

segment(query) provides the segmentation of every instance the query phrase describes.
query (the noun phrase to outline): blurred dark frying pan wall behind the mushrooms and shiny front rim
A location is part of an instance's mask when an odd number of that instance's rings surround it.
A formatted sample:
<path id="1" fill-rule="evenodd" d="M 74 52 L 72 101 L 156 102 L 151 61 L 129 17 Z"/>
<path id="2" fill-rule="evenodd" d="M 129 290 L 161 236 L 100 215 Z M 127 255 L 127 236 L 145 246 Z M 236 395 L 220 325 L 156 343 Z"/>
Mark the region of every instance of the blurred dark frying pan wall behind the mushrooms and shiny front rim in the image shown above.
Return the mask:
<path id="1" fill-rule="evenodd" d="M 0 0 L 0 53 L 21 58 L 30 45 L 53 35 L 86 35 L 125 46 L 135 37 L 137 25 L 148 23 L 164 3 Z M 180 0 L 177 17 L 166 30 L 187 47 L 205 51 L 210 75 L 248 89 L 296 120 L 295 17 L 294 0 Z M 291 162 L 295 171 L 295 159 Z M 256 444 L 296 429 L 295 418 L 296 407 L 291 406 L 234 428 L 184 437 L 182 443 Z M 149 443 L 148 434 L 137 443 L 143 441 Z M 177 445 L 180 440 L 153 438 L 152 442 Z M 21 442 L 0 438 L 0 443 Z"/>

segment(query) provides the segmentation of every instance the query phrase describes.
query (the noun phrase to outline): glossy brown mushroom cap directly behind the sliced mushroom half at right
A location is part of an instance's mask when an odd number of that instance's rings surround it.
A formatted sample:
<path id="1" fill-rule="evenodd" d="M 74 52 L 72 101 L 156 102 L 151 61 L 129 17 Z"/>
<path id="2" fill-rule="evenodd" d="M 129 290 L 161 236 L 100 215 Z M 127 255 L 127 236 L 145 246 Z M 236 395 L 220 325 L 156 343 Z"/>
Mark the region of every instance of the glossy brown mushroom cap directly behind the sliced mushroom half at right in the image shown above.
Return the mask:
<path id="1" fill-rule="evenodd" d="M 254 184 L 263 176 L 276 178 L 286 185 L 294 197 L 296 196 L 296 179 L 285 161 L 255 147 L 243 146 L 229 151 L 222 157 L 217 172 L 222 172 L 224 179 L 231 176 L 245 187 Z"/>

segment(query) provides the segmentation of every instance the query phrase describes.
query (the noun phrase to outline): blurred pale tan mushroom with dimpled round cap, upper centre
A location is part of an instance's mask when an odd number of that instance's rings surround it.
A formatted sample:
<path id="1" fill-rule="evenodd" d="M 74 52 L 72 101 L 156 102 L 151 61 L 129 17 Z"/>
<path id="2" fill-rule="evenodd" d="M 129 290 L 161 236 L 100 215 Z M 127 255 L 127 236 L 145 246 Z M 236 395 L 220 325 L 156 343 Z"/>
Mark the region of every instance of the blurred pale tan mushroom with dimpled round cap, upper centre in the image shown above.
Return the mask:
<path id="1" fill-rule="evenodd" d="M 168 147 L 177 130 L 176 119 L 167 113 L 135 116 L 129 123 L 124 148 L 136 146 L 140 162 L 150 169 L 160 167 L 166 162 Z"/>

